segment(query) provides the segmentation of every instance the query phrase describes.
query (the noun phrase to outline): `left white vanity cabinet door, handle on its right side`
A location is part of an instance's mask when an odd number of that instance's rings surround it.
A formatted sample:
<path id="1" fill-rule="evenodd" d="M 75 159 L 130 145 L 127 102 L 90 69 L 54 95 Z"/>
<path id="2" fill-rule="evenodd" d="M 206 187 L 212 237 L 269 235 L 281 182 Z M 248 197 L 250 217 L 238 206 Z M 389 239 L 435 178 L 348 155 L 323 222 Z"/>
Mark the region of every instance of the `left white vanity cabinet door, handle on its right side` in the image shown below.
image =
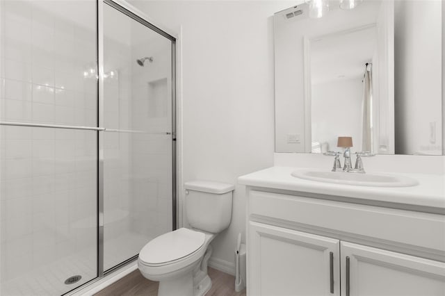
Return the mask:
<path id="1" fill-rule="evenodd" d="M 257 222 L 249 236 L 248 295 L 340 295 L 339 240 Z"/>

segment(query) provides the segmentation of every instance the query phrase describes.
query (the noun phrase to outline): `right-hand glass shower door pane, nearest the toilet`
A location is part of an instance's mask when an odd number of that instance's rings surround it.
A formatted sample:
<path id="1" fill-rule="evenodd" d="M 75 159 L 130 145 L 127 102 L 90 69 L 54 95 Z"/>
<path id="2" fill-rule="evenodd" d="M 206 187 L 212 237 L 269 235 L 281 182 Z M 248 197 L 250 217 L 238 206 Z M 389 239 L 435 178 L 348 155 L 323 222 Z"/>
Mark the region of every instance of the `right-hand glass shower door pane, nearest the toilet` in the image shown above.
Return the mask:
<path id="1" fill-rule="evenodd" d="M 104 3 L 104 270 L 172 230 L 172 40 Z"/>

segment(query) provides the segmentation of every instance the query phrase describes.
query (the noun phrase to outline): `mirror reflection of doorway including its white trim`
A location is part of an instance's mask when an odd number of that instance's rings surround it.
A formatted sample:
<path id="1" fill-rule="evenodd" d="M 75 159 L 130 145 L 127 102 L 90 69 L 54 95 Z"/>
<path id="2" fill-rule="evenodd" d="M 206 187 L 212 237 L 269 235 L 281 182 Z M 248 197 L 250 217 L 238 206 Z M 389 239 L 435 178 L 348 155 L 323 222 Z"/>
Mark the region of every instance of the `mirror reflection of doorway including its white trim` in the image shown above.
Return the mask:
<path id="1" fill-rule="evenodd" d="M 374 11 L 369 24 L 304 38 L 307 152 L 349 135 L 354 151 L 394 153 L 394 6 Z"/>

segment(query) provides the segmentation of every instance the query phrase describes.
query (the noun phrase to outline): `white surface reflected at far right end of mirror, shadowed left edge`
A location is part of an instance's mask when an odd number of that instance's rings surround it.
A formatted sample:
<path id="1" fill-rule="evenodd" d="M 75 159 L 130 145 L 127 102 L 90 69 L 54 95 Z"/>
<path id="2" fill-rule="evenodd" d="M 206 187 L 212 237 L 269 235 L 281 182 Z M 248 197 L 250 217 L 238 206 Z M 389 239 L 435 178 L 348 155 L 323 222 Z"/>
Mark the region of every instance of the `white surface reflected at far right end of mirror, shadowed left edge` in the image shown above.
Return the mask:
<path id="1" fill-rule="evenodd" d="M 441 5 L 441 1 L 396 2 L 395 103 L 398 154 L 442 152 Z M 436 126 L 435 141 L 430 137 L 430 124 Z"/>

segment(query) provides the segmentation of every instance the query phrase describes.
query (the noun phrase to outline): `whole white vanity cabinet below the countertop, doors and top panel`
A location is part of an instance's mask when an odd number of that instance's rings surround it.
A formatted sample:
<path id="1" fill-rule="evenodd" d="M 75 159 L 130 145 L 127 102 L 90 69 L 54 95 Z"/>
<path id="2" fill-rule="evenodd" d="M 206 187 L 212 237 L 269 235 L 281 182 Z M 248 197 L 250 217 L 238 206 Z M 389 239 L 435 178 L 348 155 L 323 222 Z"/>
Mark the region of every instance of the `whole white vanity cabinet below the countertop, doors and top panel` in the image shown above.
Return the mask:
<path id="1" fill-rule="evenodd" d="M 254 189 L 248 295 L 445 295 L 444 215 Z"/>

